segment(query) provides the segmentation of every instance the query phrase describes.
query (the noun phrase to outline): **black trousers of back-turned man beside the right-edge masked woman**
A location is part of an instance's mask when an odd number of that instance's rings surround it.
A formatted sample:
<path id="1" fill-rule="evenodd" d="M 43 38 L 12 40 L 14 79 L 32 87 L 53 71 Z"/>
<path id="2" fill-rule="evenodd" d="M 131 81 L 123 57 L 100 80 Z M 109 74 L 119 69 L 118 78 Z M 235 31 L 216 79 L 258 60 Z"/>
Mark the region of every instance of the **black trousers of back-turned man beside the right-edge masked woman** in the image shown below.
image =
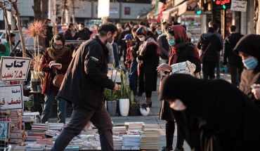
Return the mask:
<path id="1" fill-rule="evenodd" d="M 237 64 L 230 64 L 229 67 L 230 67 L 230 74 L 231 74 L 231 83 L 234 84 L 235 86 L 238 86 L 240 84 L 241 73 L 244 69 L 244 64 L 242 62 Z"/>

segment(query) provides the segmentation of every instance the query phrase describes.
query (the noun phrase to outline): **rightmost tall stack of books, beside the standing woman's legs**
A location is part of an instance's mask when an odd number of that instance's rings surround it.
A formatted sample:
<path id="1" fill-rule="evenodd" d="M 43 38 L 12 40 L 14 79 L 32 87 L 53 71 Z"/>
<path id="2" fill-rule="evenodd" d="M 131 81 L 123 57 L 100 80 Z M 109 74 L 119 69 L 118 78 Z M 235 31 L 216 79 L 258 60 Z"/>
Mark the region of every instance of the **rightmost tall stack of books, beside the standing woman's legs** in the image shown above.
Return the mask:
<path id="1" fill-rule="evenodd" d="M 159 138 L 161 136 L 160 131 L 155 130 L 143 130 L 140 131 L 141 135 L 141 150 L 159 150 Z"/>

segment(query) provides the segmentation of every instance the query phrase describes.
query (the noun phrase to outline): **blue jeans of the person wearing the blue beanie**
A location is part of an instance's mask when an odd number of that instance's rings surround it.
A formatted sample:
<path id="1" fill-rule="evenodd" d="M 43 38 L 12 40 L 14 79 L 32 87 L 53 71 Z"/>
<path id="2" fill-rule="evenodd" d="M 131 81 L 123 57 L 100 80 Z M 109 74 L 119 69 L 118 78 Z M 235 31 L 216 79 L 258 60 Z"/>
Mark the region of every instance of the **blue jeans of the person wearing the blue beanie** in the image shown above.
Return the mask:
<path id="1" fill-rule="evenodd" d="M 133 91 L 134 95 L 137 94 L 137 62 L 132 62 L 129 72 L 129 81 L 130 88 Z"/>

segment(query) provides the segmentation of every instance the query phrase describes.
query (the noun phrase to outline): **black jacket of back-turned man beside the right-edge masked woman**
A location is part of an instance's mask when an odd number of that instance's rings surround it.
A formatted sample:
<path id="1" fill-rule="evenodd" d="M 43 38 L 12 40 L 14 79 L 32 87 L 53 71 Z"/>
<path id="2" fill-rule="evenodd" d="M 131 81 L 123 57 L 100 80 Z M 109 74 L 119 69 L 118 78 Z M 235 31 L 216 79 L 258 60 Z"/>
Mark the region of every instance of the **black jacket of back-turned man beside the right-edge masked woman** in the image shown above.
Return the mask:
<path id="1" fill-rule="evenodd" d="M 227 58 L 229 64 L 242 63 L 242 58 L 233 52 L 233 48 L 243 36 L 240 32 L 236 32 L 226 37 L 223 46 L 223 65 L 227 65 Z"/>

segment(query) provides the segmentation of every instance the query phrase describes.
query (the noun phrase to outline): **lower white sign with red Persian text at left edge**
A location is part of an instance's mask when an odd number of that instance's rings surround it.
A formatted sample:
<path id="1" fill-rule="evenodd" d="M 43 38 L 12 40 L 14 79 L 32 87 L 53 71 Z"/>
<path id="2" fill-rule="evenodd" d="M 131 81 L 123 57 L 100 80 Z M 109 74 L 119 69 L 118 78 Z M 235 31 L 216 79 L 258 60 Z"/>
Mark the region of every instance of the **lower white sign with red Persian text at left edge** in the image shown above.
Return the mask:
<path id="1" fill-rule="evenodd" d="M 0 86 L 0 110 L 23 109 L 22 84 Z"/>

